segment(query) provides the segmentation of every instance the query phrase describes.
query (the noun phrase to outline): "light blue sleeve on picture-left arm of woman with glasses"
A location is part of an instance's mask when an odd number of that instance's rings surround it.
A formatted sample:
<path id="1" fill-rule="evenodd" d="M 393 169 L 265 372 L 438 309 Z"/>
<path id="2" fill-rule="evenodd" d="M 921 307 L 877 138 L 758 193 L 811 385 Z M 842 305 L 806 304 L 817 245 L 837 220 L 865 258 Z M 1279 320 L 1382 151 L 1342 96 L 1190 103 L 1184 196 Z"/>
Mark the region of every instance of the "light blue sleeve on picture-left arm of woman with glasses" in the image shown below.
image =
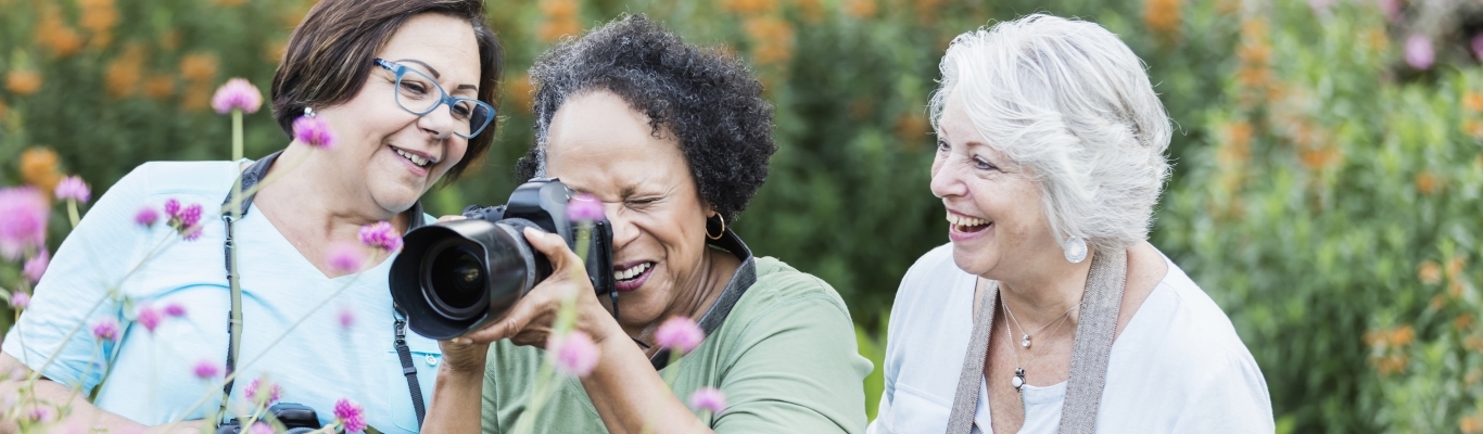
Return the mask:
<path id="1" fill-rule="evenodd" d="M 135 224 L 148 198 L 148 172 L 145 164 L 119 179 L 62 240 L 31 305 L 6 333 L 6 354 L 55 382 L 82 390 L 98 385 L 116 345 L 95 339 L 92 327 L 105 318 L 122 323 L 119 289 L 141 268 L 147 244 L 172 231 L 163 222 L 153 230 Z M 148 206 L 159 210 L 160 204 Z"/>

